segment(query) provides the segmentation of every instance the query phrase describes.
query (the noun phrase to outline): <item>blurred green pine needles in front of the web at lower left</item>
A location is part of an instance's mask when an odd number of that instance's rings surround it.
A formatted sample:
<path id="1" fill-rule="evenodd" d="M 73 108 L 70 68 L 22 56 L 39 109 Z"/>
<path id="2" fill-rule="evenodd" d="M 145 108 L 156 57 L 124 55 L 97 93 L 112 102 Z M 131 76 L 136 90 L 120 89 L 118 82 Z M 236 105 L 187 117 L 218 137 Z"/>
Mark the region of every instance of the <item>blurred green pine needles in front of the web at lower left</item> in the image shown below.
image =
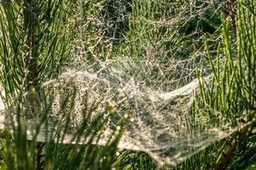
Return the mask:
<path id="1" fill-rule="evenodd" d="M 13 133 L 5 130 L 2 134 L 3 167 L 6 169 L 110 169 L 113 167 L 117 144 L 124 132 L 122 124 L 120 124 L 121 129 L 113 131 L 106 144 L 101 146 L 99 142 L 108 122 L 108 116 L 92 117 L 92 111 L 86 110 L 84 105 L 84 120 L 72 131 L 70 122 L 75 109 L 76 89 L 67 85 L 64 91 L 60 110 L 57 111 L 61 113 L 61 119 L 56 124 L 50 119 L 53 99 L 56 95 L 52 90 L 40 92 L 42 96 L 40 115 L 33 119 L 33 122 L 24 117 L 29 111 L 29 104 L 24 104 L 25 99 L 9 100 L 8 105 L 11 107 L 6 109 L 8 113 L 6 118 L 9 120 L 6 126 Z M 55 95 L 49 96 L 49 93 Z M 86 103 L 85 100 L 84 102 Z M 42 132 L 45 132 L 45 135 Z"/>

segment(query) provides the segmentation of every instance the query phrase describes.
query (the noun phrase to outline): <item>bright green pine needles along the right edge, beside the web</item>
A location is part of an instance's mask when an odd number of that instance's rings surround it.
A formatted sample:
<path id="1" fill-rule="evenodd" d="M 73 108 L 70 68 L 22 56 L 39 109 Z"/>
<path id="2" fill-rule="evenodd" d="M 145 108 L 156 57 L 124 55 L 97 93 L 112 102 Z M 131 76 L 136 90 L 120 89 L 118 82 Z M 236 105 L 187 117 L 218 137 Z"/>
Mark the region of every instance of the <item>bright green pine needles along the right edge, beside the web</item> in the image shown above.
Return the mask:
<path id="1" fill-rule="evenodd" d="M 247 1 L 249 2 L 249 1 Z M 255 2 L 251 2 L 255 7 Z M 186 161 L 192 169 L 246 169 L 255 164 L 255 35 L 256 17 L 252 11 L 256 8 L 248 8 L 246 3 L 238 2 L 236 41 L 232 40 L 230 33 L 231 20 L 223 18 L 223 46 L 218 46 L 217 59 L 212 57 L 209 45 L 206 44 L 207 56 L 212 65 L 213 79 L 209 84 L 201 78 L 201 95 L 196 100 L 197 106 L 203 108 L 212 118 L 212 122 L 222 115 L 225 122 L 230 125 L 242 127 L 229 139 L 214 144 L 213 147 L 193 156 L 191 161 Z M 234 43 L 236 43 L 234 45 Z M 236 48 L 235 48 L 236 47 Z M 222 59 L 221 54 L 224 54 Z M 196 113 L 196 109 L 195 109 Z M 215 150 L 212 155 L 212 150 Z M 196 157 L 201 157 L 195 161 Z M 211 162 L 207 162 L 211 159 Z M 204 161 L 206 160 L 206 161 Z M 203 165 L 200 165 L 202 162 Z M 200 165 L 200 166 L 199 166 Z M 207 167 L 205 167 L 207 165 Z M 180 167 L 183 167 L 181 165 Z M 188 168 L 188 167 L 186 167 Z M 186 169 L 185 168 L 185 169 Z"/>

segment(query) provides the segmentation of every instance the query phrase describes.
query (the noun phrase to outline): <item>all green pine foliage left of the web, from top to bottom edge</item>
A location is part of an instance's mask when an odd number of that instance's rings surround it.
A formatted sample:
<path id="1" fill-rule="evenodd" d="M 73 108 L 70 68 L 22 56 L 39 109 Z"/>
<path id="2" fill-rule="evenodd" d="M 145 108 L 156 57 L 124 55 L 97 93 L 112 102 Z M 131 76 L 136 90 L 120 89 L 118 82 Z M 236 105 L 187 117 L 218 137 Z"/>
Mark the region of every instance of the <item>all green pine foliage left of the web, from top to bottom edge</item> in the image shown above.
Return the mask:
<path id="1" fill-rule="evenodd" d="M 60 92 L 41 87 L 41 82 L 60 73 L 72 49 L 73 3 L 0 3 L 1 82 L 8 120 L 1 132 L 1 169 L 110 169 L 123 129 L 99 146 L 108 116 L 92 117 L 93 110 L 84 105 L 83 122 L 74 136 L 68 135 L 76 89 L 67 85 Z M 61 120 L 53 124 L 50 114 L 57 94 L 61 94 L 57 111 Z M 73 144 L 62 144 L 66 137 Z"/>

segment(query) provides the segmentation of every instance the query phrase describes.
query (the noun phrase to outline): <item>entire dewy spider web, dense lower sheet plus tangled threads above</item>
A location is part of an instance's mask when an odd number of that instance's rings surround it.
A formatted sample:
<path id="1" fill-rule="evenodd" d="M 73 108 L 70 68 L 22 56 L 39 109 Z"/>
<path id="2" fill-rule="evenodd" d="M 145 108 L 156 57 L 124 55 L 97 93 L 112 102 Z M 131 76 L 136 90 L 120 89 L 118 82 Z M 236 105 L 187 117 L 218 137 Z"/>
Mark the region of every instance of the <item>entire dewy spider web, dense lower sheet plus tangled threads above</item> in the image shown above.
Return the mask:
<path id="1" fill-rule="evenodd" d="M 222 113 L 213 122 L 207 111 L 191 111 L 199 93 L 195 70 L 203 71 L 209 84 L 212 77 L 205 35 L 211 35 L 212 48 L 220 40 L 218 23 L 209 30 L 201 23 L 204 17 L 219 16 L 220 3 L 165 2 L 79 2 L 73 55 L 63 73 L 42 87 L 65 88 L 69 82 L 78 89 L 71 127 L 83 120 L 86 95 L 89 108 L 99 102 L 93 114 L 112 113 L 100 143 L 106 144 L 125 117 L 120 149 L 141 150 L 162 164 L 176 165 L 239 126 L 224 122 Z M 56 110 L 59 98 L 57 94 Z M 53 111 L 51 117 L 57 121 L 60 116 Z"/>

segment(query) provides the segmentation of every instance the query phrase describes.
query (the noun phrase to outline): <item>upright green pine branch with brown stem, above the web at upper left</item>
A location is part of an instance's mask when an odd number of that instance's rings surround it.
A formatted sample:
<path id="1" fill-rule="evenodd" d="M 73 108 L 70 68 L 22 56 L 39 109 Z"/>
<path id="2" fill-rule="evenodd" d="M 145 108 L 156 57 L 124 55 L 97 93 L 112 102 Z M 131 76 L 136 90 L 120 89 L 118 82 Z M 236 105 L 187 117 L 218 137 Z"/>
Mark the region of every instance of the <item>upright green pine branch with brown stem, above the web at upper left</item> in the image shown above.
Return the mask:
<path id="1" fill-rule="evenodd" d="M 5 93 L 56 77 L 69 54 L 73 21 L 66 1 L 1 1 L 1 81 Z"/>

